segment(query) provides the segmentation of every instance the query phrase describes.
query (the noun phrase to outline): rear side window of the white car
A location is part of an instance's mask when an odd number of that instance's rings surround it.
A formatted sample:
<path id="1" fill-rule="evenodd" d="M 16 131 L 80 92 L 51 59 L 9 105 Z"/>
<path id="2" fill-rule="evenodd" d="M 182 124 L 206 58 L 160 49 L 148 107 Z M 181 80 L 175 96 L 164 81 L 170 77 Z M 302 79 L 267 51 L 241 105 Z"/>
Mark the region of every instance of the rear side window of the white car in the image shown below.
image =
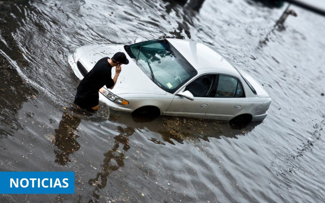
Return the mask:
<path id="1" fill-rule="evenodd" d="M 244 88 L 241 82 L 230 75 L 219 75 L 214 97 L 243 97 Z"/>

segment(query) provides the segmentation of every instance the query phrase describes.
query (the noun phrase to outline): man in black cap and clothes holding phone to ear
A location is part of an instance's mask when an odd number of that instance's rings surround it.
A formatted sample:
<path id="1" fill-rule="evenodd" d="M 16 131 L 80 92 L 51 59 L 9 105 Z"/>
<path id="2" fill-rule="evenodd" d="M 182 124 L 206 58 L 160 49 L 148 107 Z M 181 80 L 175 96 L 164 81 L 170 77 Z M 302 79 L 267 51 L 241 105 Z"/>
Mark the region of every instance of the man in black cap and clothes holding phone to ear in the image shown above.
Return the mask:
<path id="1" fill-rule="evenodd" d="M 121 72 L 122 64 L 128 64 L 129 60 L 122 52 L 117 52 L 112 58 L 100 59 L 92 70 L 84 77 L 77 88 L 74 103 L 81 108 L 98 110 L 99 89 L 106 85 L 113 89 Z M 115 68 L 115 76 L 111 78 L 111 69 Z"/>

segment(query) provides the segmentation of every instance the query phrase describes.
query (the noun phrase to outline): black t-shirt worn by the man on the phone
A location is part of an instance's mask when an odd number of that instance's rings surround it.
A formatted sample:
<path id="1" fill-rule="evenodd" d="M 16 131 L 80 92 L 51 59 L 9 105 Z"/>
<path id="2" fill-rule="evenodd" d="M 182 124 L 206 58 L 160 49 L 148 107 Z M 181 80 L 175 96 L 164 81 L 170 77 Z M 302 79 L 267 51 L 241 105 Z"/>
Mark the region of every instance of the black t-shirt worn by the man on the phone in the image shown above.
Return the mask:
<path id="1" fill-rule="evenodd" d="M 85 96 L 98 95 L 98 90 L 106 85 L 111 88 L 114 85 L 112 79 L 112 66 L 107 61 L 109 57 L 100 59 L 92 70 L 84 77 L 77 88 L 76 98 Z"/>

